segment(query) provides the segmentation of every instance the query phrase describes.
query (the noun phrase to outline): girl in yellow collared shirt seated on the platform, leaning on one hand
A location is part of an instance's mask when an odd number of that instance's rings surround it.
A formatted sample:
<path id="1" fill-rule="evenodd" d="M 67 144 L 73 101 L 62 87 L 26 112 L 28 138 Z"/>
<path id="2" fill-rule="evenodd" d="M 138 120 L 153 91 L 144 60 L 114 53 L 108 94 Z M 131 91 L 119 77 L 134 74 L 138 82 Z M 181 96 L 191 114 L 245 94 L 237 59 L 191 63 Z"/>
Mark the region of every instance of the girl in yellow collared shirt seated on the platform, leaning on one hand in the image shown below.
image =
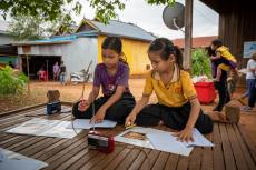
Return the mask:
<path id="1" fill-rule="evenodd" d="M 152 70 L 147 74 L 142 98 L 126 119 L 126 126 L 166 126 L 179 130 L 178 139 L 193 140 L 193 128 L 201 133 L 213 131 L 213 120 L 204 114 L 188 72 L 183 70 L 180 50 L 165 38 L 150 44 L 148 57 Z M 148 104 L 155 91 L 158 103 Z"/>

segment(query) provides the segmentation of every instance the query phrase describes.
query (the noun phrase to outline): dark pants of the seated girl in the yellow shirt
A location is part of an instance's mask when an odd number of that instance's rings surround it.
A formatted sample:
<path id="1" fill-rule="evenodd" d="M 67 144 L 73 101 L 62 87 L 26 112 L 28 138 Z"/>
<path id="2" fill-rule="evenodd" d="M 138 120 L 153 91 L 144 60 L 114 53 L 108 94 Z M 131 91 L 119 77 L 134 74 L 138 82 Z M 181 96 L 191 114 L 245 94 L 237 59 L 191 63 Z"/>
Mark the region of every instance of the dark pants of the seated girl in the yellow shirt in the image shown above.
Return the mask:
<path id="1" fill-rule="evenodd" d="M 163 104 L 148 104 L 137 116 L 136 123 L 138 126 L 157 126 L 159 121 L 171 129 L 183 130 L 188 121 L 191 106 L 189 102 L 181 107 L 170 108 Z M 211 118 L 204 114 L 200 110 L 199 117 L 195 124 L 203 134 L 213 131 L 214 122 Z"/>

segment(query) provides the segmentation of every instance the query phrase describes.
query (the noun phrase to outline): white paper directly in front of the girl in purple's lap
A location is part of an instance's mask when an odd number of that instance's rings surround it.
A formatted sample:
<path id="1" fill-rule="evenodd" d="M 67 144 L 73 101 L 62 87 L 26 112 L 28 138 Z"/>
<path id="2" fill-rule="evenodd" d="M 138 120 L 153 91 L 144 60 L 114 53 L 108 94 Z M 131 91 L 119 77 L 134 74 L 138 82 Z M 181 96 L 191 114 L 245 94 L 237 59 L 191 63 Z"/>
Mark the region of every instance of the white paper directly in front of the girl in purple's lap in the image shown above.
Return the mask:
<path id="1" fill-rule="evenodd" d="M 114 128 L 117 122 L 111 120 L 104 120 L 101 123 L 95 123 L 95 128 Z M 91 129 L 93 123 L 90 123 L 90 119 L 76 119 L 67 128 L 69 129 Z"/>

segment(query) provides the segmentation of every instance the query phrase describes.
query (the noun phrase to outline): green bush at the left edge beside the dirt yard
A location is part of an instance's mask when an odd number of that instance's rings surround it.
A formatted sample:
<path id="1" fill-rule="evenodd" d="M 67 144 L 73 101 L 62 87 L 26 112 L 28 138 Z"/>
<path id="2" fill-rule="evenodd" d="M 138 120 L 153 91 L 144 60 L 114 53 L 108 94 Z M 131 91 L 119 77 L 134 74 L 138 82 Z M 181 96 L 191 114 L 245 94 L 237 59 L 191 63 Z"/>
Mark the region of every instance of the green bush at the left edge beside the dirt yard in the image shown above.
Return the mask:
<path id="1" fill-rule="evenodd" d="M 9 66 L 0 69 L 0 94 L 22 94 L 28 77 Z"/>

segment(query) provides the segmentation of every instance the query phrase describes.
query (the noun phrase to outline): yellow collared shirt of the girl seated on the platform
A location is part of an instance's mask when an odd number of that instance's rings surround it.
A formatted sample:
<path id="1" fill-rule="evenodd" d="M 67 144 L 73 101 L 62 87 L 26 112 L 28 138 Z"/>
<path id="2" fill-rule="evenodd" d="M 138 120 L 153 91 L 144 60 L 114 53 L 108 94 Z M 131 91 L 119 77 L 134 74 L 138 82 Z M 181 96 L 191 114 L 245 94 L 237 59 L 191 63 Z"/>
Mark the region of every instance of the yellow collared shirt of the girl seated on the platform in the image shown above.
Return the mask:
<path id="1" fill-rule="evenodd" d="M 150 96 L 155 91 L 158 102 L 167 107 L 181 107 L 188 100 L 197 97 L 188 72 L 175 67 L 170 82 L 165 86 L 157 72 L 150 71 L 146 78 L 144 96 Z"/>

